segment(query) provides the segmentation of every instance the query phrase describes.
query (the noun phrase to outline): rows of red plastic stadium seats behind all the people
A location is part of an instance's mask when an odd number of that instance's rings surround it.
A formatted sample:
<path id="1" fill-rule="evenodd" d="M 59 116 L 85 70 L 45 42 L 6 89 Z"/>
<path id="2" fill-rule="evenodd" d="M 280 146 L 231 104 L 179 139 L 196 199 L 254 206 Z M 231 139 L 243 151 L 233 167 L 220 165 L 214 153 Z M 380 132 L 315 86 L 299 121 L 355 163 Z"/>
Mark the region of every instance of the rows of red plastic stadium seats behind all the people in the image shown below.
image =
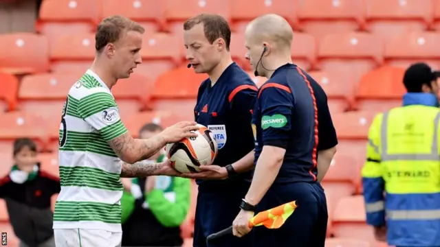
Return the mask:
<path id="1" fill-rule="evenodd" d="M 36 140 L 42 169 L 58 176 L 61 108 L 70 86 L 94 60 L 94 32 L 106 16 L 128 16 L 146 30 L 142 64 L 112 89 L 131 134 L 137 137 L 148 121 L 166 127 L 193 119 L 207 75 L 186 67 L 182 23 L 202 12 L 230 22 L 232 57 L 257 86 L 267 78 L 254 76 L 245 59 L 245 27 L 267 13 L 289 21 L 292 60 L 327 93 L 339 139 L 322 183 L 329 204 L 326 246 L 386 246 L 365 224 L 360 171 L 367 134 L 377 113 L 401 105 L 409 64 L 423 61 L 440 69 L 440 0 L 43 0 L 35 32 L 0 34 L 0 159 L 6 164 L 0 176 L 10 171 L 17 137 Z M 191 192 L 181 226 L 184 246 L 192 246 L 195 183 Z M 0 201 L 3 229 L 10 233 L 8 244 L 17 244 Z"/>

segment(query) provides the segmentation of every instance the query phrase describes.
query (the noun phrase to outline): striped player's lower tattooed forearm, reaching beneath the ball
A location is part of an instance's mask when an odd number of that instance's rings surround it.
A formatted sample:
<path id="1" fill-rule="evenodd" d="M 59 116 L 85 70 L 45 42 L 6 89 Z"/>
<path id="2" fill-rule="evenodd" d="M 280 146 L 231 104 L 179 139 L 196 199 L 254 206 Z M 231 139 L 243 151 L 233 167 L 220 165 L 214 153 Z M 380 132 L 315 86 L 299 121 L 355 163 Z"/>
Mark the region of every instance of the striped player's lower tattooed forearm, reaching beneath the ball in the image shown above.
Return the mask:
<path id="1" fill-rule="evenodd" d="M 157 175 L 162 167 L 162 163 L 149 163 L 147 161 L 139 161 L 134 164 L 123 162 L 120 176 L 121 178 L 137 178 Z"/>

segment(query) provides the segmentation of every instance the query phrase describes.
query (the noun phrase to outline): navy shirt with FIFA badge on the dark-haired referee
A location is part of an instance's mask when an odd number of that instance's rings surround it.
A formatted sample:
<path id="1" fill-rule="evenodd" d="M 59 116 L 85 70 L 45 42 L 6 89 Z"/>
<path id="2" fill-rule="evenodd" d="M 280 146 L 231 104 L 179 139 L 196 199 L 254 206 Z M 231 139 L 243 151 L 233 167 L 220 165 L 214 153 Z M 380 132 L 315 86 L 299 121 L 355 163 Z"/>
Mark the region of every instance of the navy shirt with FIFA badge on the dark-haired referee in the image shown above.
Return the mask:
<path id="1" fill-rule="evenodd" d="M 197 104 L 194 108 L 195 121 L 208 127 L 214 134 L 219 152 L 214 165 L 225 166 L 238 161 L 254 149 L 252 133 L 252 109 L 258 89 L 235 62 L 223 71 L 219 80 L 211 86 L 211 80 L 204 80 L 199 87 Z M 252 171 L 237 176 L 234 180 L 251 180 Z M 196 180 L 199 189 L 225 189 L 234 186 L 228 180 Z"/>

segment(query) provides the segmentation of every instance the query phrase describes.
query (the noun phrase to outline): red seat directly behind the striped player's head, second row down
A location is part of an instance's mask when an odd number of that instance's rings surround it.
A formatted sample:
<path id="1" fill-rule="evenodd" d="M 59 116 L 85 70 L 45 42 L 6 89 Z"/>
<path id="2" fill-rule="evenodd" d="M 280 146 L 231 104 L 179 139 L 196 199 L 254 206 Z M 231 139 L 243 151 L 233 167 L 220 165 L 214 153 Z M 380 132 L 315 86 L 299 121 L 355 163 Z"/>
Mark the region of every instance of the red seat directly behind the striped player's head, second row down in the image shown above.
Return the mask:
<path id="1" fill-rule="evenodd" d="M 90 67 L 95 58 L 94 34 L 61 36 L 50 49 L 52 71 L 72 72 Z M 85 71 L 85 70 L 84 70 Z"/>

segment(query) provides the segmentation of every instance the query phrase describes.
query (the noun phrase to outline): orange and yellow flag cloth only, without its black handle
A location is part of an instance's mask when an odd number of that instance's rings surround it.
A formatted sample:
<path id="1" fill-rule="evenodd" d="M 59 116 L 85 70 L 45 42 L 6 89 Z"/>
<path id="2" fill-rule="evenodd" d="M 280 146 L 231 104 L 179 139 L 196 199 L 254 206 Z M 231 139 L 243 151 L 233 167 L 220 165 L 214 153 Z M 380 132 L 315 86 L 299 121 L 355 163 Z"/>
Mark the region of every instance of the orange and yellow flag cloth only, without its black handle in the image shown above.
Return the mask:
<path id="1" fill-rule="evenodd" d="M 249 222 L 249 227 L 265 226 L 266 228 L 276 229 L 283 226 L 287 218 L 294 213 L 296 201 L 287 202 L 273 209 L 258 213 Z"/>

